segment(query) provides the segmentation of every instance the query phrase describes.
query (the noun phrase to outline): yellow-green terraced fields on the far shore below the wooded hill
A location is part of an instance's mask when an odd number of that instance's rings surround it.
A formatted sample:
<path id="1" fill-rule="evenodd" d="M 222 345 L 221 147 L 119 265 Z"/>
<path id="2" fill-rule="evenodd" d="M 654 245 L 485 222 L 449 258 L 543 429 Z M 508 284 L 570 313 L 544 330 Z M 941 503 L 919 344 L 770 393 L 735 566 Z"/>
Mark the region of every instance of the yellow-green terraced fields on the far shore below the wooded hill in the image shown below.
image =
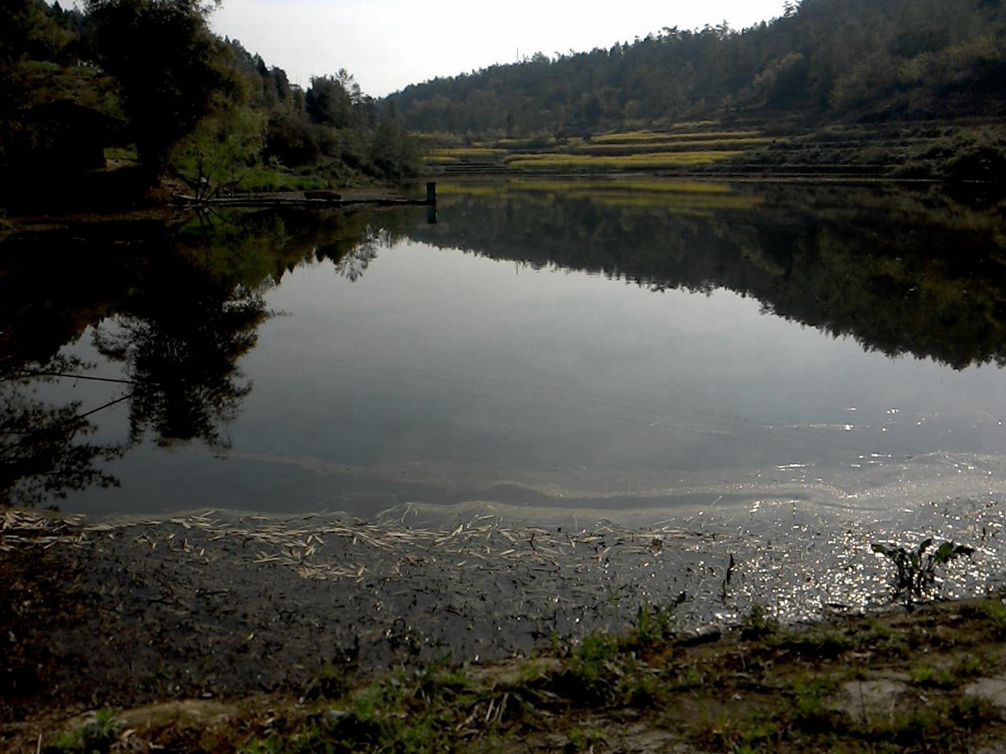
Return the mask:
<path id="1" fill-rule="evenodd" d="M 760 177 L 995 179 L 1001 124 L 894 123 L 818 130 L 716 121 L 586 137 L 465 141 L 427 138 L 434 175 L 661 172 Z M 785 132 L 785 133 L 783 133 Z"/>

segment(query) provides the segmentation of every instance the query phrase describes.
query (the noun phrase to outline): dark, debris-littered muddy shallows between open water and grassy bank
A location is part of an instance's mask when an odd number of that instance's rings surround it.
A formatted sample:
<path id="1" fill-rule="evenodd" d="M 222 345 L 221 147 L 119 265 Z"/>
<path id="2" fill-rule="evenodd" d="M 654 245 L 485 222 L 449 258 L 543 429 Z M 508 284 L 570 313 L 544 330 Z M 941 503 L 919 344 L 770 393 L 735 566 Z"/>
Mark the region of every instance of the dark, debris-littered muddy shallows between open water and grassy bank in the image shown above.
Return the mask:
<path id="1" fill-rule="evenodd" d="M 53 709 L 297 696 L 326 667 L 372 673 L 528 656 L 556 640 L 624 631 L 644 603 L 673 609 L 680 635 L 709 636 L 756 603 L 789 622 L 889 603 L 886 564 L 851 532 L 828 542 L 796 533 L 820 549 L 823 569 L 843 563 L 821 573 L 793 542 L 745 541 L 704 525 L 2 517 L 4 726 Z M 990 573 L 967 581 L 975 569 L 949 571 L 943 594 L 991 588 Z"/>

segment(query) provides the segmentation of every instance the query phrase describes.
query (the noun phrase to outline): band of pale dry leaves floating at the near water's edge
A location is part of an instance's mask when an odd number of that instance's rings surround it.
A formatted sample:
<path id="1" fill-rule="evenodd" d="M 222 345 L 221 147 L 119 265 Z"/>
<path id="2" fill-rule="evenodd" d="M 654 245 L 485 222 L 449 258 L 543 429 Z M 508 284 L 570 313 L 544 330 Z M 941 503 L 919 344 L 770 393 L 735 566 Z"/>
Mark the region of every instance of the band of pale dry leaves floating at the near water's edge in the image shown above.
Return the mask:
<path id="1" fill-rule="evenodd" d="M 160 547 L 186 555 L 201 565 L 210 565 L 220 558 L 236 558 L 237 562 L 250 565 L 288 567 L 302 577 L 315 580 L 359 581 L 370 570 L 366 563 L 373 566 L 379 562 L 382 572 L 394 574 L 416 552 L 456 559 L 459 573 L 463 568 L 475 569 L 496 559 L 514 563 L 529 560 L 554 566 L 556 558 L 574 555 L 577 547 L 582 553 L 584 547 L 601 546 L 598 551 L 604 558 L 612 548 L 605 549 L 603 543 L 616 531 L 623 530 L 600 526 L 570 536 L 541 527 L 504 526 L 495 515 L 478 516 L 448 531 L 417 529 L 395 521 L 347 523 L 316 514 L 295 519 L 246 515 L 234 520 L 207 511 L 167 519 L 88 524 L 83 517 L 56 518 L 11 510 L 0 514 L 0 552 L 53 545 L 86 546 L 101 539 L 129 536 L 151 550 Z M 193 544 L 196 532 L 205 546 Z M 619 551 L 644 555 L 652 551 L 654 538 L 684 536 L 682 531 L 667 527 L 633 532 L 620 542 Z M 348 550 L 360 556 L 359 562 L 347 559 L 347 547 L 333 546 L 340 540 L 341 545 L 348 545 Z M 239 547 L 221 547 L 228 542 Z M 378 554 L 380 557 L 375 560 L 372 556 Z"/>

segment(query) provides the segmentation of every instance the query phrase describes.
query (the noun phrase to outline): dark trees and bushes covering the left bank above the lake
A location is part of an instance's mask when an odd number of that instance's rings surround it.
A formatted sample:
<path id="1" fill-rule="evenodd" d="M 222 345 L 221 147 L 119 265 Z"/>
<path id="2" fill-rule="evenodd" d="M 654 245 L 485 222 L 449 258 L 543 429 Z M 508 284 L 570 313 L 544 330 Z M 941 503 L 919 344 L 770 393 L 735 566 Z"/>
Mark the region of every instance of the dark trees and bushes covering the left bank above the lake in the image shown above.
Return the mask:
<path id="1" fill-rule="evenodd" d="M 0 171 L 93 167 L 76 158 L 96 142 L 135 145 L 148 182 L 175 172 L 311 188 L 417 171 L 393 105 L 363 93 L 345 70 L 307 89 L 291 84 L 214 35 L 208 12 L 197 0 L 3 3 Z"/>

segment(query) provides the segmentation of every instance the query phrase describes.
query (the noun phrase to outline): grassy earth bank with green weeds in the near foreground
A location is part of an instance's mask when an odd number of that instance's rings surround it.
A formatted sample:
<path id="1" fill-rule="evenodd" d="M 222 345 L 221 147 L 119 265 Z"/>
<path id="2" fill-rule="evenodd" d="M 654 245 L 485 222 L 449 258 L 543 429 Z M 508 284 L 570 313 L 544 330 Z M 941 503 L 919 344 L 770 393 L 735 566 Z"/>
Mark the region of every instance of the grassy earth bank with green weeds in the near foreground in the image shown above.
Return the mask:
<path id="1" fill-rule="evenodd" d="M 49 751 L 970 751 L 1006 737 L 1006 607 L 949 602 L 675 636 L 644 605 L 624 635 L 555 641 L 489 667 L 347 677 L 299 698 L 97 711 L 43 732 Z"/>

